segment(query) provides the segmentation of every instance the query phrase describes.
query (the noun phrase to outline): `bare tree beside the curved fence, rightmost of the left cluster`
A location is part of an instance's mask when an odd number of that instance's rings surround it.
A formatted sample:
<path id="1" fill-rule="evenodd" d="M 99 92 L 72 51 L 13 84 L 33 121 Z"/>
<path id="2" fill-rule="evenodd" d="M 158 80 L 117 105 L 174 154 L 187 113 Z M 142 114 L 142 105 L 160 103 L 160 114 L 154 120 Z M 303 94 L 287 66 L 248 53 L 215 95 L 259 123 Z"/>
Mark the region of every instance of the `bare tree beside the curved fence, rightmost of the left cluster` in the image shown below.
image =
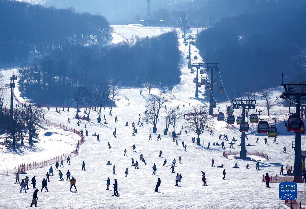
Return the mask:
<path id="1" fill-rule="evenodd" d="M 34 104 L 28 104 L 22 109 L 22 120 L 25 128 L 28 130 L 29 144 L 33 145 L 33 135 L 35 134 L 37 126 L 41 123 L 43 114 L 45 113 L 43 108 L 37 107 Z"/>

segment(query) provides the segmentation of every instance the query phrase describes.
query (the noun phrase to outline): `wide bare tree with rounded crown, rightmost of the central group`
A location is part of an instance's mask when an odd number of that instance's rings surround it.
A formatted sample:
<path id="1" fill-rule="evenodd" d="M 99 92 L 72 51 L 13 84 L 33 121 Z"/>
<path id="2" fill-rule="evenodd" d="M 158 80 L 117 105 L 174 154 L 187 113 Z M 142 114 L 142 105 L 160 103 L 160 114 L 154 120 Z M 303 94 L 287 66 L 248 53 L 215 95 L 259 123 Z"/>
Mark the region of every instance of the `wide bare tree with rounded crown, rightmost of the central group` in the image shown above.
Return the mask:
<path id="1" fill-rule="evenodd" d="M 209 110 L 203 105 L 192 106 L 187 113 L 190 115 L 186 123 L 186 128 L 198 135 L 197 143 L 200 142 L 200 134 L 205 131 L 215 130 L 215 118 L 209 115 Z"/>

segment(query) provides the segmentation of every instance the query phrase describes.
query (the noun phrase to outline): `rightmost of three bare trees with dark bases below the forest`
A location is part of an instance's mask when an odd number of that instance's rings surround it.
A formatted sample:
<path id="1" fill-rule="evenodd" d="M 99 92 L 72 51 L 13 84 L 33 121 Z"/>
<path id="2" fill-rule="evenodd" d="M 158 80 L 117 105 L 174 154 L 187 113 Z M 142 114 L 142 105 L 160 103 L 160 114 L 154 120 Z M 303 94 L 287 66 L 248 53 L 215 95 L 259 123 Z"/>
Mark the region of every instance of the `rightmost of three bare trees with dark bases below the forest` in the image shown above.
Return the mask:
<path id="1" fill-rule="evenodd" d="M 97 112 L 98 112 L 98 123 L 101 121 L 101 111 L 102 108 L 107 104 L 107 102 L 110 100 L 110 87 L 107 85 L 104 86 L 99 86 L 95 90 L 94 94 L 94 103 L 95 106 L 97 107 Z"/>

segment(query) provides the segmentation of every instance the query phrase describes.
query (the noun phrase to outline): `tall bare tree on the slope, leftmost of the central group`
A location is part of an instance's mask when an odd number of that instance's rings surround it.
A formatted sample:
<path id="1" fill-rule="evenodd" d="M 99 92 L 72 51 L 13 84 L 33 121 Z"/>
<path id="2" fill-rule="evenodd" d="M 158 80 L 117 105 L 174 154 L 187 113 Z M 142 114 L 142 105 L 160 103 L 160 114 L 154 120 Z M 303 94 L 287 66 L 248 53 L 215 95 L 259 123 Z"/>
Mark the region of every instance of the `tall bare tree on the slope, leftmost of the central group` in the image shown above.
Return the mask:
<path id="1" fill-rule="evenodd" d="M 169 96 L 166 96 L 165 94 L 159 94 L 158 96 L 152 95 L 149 100 L 147 100 L 146 108 L 148 110 L 147 119 L 150 124 L 153 125 L 153 133 L 156 133 L 156 125 L 159 111 L 162 108 L 162 106 L 169 101 Z"/>

